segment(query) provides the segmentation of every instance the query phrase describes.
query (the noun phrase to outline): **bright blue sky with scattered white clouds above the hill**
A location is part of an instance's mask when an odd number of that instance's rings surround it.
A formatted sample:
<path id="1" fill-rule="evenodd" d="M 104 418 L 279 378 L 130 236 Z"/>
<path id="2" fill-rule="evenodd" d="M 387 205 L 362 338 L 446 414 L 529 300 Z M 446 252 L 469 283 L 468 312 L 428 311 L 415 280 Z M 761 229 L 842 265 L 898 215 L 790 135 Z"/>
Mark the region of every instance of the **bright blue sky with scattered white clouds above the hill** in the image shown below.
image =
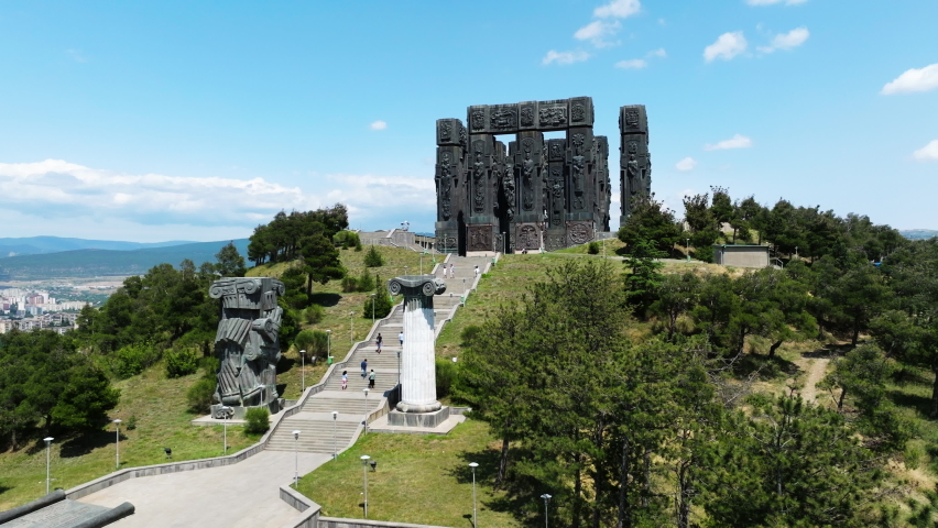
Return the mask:
<path id="1" fill-rule="evenodd" d="M 337 201 L 355 228 L 432 231 L 436 119 L 575 96 L 612 145 L 619 107 L 647 107 L 678 216 L 719 185 L 938 229 L 936 20 L 934 0 L 3 2 L 0 232 L 221 240 Z"/>

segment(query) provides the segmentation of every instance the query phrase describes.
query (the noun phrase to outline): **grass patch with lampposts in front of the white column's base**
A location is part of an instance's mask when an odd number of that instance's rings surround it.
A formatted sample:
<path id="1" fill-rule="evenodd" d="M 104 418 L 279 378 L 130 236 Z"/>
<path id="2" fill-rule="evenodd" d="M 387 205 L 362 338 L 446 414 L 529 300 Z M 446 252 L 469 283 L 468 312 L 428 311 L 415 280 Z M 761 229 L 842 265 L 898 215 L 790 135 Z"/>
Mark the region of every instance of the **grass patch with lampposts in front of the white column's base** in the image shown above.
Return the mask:
<path id="1" fill-rule="evenodd" d="M 363 475 L 360 457 L 378 462 L 368 470 L 368 517 L 374 520 L 449 527 L 471 526 L 472 473 L 479 526 L 522 526 L 506 506 L 504 493 L 491 486 L 498 466 L 498 441 L 489 427 L 467 420 L 447 436 L 380 435 L 359 439 L 337 462 L 299 480 L 299 492 L 329 517 L 362 518 Z"/>

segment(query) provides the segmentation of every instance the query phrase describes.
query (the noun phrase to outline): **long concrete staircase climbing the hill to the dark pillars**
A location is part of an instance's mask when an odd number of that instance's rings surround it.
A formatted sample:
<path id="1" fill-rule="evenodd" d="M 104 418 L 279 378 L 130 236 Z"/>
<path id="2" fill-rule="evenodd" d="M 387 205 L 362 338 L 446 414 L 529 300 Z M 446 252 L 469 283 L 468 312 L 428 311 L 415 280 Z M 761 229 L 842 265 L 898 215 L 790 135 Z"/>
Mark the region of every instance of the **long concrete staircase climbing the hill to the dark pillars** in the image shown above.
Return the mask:
<path id="1" fill-rule="evenodd" d="M 470 289 L 475 282 L 475 267 L 478 265 L 480 273 L 492 262 L 489 256 L 454 256 L 450 255 L 446 264 L 456 266 L 456 277 L 447 278 L 446 293 L 434 298 L 435 323 L 437 331 L 446 322 L 452 309 L 460 304 L 466 290 Z M 443 278 L 443 267 L 437 266 L 436 276 Z M 463 280 L 465 279 L 465 280 Z M 345 371 L 348 371 L 348 388 L 341 389 L 342 370 L 332 369 L 324 381 L 323 389 L 308 396 L 303 402 L 299 413 L 284 418 L 277 424 L 270 437 L 266 449 L 273 451 L 293 451 L 294 441 L 296 449 L 308 453 L 331 453 L 334 450 L 341 451 L 351 446 L 362 429 L 366 416 L 381 404 L 384 393 L 397 385 L 397 352 L 401 346 L 397 333 L 403 328 L 403 306 L 397 305 L 391 315 L 372 327 L 368 340 L 357 343 L 348 359 Z M 381 353 L 378 353 L 374 340 L 378 334 L 383 338 Z M 406 339 L 406 337 L 405 337 Z M 361 377 L 359 364 L 368 360 L 368 372 L 374 370 L 374 389 L 366 396 L 363 388 L 368 387 L 368 378 Z M 332 411 L 338 415 L 332 417 Z M 298 440 L 294 440 L 293 431 L 299 432 Z"/>

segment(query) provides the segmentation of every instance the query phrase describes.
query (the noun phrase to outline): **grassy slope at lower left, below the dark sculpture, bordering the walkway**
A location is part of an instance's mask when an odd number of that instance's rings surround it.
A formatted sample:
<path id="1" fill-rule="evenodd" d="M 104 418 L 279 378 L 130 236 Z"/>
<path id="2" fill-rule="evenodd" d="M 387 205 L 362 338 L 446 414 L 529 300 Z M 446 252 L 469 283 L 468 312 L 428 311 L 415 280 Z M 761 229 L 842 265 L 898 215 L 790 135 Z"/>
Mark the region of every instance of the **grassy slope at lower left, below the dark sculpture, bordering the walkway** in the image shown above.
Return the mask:
<path id="1" fill-rule="evenodd" d="M 173 460 L 193 460 L 222 454 L 222 428 L 196 427 L 189 420 L 197 415 L 186 411 L 186 391 L 200 376 L 176 380 L 165 377 L 165 366 L 157 364 L 139 376 L 118 382 L 120 405 L 111 418 L 120 418 L 121 468 L 166 462 L 163 447 L 173 450 Z M 131 416 L 137 429 L 127 430 Z M 114 429 L 57 437 L 52 444 L 52 488 L 68 490 L 116 471 Z M 228 453 L 234 453 L 258 440 L 248 438 L 242 428 L 229 427 Z M 0 453 L 0 510 L 33 501 L 45 494 L 45 444 L 36 432 L 18 451 Z"/>

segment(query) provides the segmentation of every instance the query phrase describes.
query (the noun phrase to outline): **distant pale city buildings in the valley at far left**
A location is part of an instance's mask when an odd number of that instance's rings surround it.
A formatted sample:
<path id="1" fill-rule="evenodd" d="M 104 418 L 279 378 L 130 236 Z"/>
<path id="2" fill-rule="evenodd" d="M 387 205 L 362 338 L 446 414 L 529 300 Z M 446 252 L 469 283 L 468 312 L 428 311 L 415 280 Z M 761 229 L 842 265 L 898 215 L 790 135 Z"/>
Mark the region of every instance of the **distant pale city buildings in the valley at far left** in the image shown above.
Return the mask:
<path id="1" fill-rule="evenodd" d="M 0 333 L 19 329 L 55 330 L 65 333 L 76 326 L 84 300 L 57 301 L 48 292 L 22 288 L 0 289 Z"/>

